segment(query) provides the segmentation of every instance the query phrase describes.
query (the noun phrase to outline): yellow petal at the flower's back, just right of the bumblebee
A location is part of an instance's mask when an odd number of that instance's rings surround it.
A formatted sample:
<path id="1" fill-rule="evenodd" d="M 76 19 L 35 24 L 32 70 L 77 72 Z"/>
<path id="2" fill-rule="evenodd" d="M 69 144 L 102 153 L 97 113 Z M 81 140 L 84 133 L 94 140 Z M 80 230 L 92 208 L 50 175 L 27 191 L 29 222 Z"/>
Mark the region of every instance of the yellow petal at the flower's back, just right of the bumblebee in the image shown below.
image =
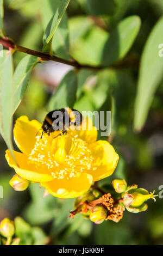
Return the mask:
<path id="1" fill-rule="evenodd" d="M 97 140 L 97 128 L 93 126 L 92 120 L 88 117 L 84 117 L 81 130 L 71 131 L 72 136 L 78 135 L 78 138 L 83 139 L 86 143 L 90 144 Z"/>

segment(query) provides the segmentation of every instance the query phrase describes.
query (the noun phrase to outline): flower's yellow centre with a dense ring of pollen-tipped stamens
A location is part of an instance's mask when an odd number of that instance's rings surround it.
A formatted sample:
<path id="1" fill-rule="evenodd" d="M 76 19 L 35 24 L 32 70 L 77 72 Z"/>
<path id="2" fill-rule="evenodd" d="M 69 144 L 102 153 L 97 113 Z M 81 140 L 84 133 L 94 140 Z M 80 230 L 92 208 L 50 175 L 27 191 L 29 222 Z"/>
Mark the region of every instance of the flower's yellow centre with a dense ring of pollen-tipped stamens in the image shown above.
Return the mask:
<path id="1" fill-rule="evenodd" d="M 46 134 L 36 137 L 29 162 L 36 168 L 45 167 L 53 178 L 69 179 L 92 168 L 93 156 L 86 143 L 68 134 L 53 138 Z"/>

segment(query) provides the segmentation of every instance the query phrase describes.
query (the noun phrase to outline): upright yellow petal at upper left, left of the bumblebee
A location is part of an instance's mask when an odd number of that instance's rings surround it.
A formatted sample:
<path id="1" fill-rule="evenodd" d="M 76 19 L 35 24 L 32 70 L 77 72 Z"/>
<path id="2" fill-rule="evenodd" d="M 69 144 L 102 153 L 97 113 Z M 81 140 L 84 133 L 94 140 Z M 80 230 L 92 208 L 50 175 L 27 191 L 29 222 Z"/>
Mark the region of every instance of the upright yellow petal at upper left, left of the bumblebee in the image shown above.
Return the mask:
<path id="1" fill-rule="evenodd" d="M 29 155 L 36 142 L 36 134 L 41 128 L 37 120 L 29 121 L 26 115 L 16 120 L 14 126 L 14 140 L 22 153 Z M 41 132 L 41 131 L 40 131 Z"/>

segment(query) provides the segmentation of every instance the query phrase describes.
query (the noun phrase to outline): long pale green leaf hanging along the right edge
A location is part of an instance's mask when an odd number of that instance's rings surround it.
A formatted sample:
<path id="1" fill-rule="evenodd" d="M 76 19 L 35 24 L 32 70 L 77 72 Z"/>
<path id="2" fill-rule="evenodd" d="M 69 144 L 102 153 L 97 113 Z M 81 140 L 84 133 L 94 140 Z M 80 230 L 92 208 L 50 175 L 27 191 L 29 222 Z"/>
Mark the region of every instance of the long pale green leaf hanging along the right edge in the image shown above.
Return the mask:
<path id="1" fill-rule="evenodd" d="M 163 41 L 163 17 L 156 23 L 143 50 L 138 89 L 135 100 L 134 129 L 145 124 L 156 88 L 162 79 L 163 57 L 159 56 L 159 44 Z"/>

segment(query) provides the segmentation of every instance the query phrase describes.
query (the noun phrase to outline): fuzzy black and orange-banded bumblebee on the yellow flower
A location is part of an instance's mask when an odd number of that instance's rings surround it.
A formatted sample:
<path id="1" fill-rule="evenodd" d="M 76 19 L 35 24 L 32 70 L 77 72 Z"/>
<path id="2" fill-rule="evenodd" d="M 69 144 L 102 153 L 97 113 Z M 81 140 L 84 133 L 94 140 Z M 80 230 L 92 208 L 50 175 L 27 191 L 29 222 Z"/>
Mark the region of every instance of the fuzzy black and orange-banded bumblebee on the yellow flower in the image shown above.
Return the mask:
<path id="1" fill-rule="evenodd" d="M 54 131 L 60 131 L 60 135 L 68 130 L 76 130 L 82 125 L 82 121 L 83 115 L 76 109 L 68 107 L 55 109 L 46 115 L 42 124 L 42 135 L 44 132 L 50 135 Z"/>

